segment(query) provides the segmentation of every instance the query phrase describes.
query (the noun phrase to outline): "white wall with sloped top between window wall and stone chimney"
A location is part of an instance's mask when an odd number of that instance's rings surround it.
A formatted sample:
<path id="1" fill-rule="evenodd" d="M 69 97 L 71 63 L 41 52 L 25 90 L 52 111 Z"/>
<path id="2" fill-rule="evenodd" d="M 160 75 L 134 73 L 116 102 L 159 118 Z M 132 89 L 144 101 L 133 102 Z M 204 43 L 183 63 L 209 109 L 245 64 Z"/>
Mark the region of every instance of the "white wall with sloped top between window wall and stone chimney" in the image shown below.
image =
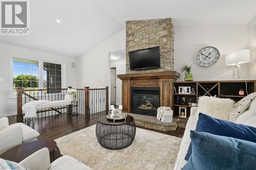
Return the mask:
<path id="1" fill-rule="evenodd" d="M 125 49 L 125 30 L 77 58 L 77 86 L 80 88 L 110 86 L 109 53 L 123 49 Z"/>

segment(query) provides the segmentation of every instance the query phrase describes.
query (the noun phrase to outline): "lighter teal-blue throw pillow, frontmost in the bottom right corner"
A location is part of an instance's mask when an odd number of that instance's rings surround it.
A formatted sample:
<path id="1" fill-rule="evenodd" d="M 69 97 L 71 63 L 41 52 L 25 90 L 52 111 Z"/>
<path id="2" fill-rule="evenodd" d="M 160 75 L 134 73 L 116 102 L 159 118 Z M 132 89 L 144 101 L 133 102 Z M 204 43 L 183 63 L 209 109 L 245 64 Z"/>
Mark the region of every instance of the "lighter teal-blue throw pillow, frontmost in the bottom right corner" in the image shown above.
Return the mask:
<path id="1" fill-rule="evenodd" d="M 190 131 L 193 152 L 183 170 L 256 168 L 256 143 Z"/>

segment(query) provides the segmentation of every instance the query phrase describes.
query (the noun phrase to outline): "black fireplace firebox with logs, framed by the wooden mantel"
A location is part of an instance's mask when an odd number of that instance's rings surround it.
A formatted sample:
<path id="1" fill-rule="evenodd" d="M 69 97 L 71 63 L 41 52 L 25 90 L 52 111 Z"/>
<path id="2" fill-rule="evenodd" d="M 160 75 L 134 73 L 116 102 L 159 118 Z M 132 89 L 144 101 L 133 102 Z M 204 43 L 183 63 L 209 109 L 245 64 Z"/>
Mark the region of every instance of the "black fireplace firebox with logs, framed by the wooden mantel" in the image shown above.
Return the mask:
<path id="1" fill-rule="evenodd" d="M 157 115 L 160 105 L 159 87 L 132 87 L 132 113 Z"/>

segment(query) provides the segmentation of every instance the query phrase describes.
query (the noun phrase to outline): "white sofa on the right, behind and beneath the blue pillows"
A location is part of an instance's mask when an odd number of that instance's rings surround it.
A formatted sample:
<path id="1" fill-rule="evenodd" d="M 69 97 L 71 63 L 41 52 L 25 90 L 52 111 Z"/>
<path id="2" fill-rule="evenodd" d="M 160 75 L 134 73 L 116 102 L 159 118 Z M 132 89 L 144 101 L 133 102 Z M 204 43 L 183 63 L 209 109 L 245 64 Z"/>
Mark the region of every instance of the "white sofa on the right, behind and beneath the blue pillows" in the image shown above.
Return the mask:
<path id="1" fill-rule="evenodd" d="M 186 129 L 181 140 L 177 162 L 174 167 L 175 170 L 180 170 L 187 162 L 184 158 L 190 143 L 190 130 L 196 129 L 198 114 L 197 107 L 192 107 Z M 250 107 L 236 119 L 235 123 L 256 127 L 256 100 L 252 101 Z"/>

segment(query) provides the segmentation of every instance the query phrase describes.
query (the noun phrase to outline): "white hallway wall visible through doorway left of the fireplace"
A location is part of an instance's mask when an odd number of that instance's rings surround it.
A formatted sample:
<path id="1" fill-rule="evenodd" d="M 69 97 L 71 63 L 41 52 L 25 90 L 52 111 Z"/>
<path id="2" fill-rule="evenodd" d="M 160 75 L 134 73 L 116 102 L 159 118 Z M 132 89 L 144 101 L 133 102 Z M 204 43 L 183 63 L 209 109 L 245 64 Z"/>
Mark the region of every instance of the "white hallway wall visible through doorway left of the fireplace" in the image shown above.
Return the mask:
<path id="1" fill-rule="evenodd" d="M 126 60 L 111 61 L 110 67 L 116 67 L 116 75 L 125 74 Z M 122 81 L 116 78 L 116 105 L 122 104 Z"/>

